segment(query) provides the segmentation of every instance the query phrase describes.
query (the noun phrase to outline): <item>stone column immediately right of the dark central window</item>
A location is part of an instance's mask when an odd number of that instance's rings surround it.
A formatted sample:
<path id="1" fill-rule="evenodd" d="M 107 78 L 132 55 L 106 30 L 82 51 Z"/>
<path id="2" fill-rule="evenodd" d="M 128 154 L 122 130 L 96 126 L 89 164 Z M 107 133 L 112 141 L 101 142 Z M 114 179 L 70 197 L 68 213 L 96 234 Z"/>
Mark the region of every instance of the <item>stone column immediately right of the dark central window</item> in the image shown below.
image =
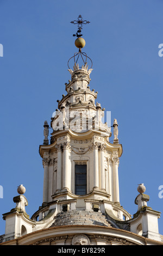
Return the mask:
<path id="1" fill-rule="evenodd" d="M 94 161 L 94 182 L 93 188 L 99 187 L 99 174 L 98 174 L 98 145 L 93 144 L 93 161 Z"/>

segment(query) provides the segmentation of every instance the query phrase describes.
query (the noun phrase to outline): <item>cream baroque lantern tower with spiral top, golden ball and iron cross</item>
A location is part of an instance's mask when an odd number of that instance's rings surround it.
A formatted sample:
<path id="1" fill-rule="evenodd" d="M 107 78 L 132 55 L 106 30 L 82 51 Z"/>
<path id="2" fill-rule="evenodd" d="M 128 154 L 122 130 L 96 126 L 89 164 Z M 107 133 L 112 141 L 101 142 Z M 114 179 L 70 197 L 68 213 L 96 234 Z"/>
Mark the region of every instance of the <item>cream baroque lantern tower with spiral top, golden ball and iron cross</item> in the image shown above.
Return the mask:
<path id="1" fill-rule="evenodd" d="M 92 60 L 82 52 L 85 46 L 82 26 L 89 22 L 79 16 L 72 23 L 78 24 L 74 36 L 77 36 L 75 45 L 79 51 L 68 60 L 71 80 L 65 83 L 66 95 L 58 100 L 58 108 L 51 119 L 51 143 L 48 143 L 45 121 L 45 139 L 40 145 L 44 168 L 43 205 L 64 199 L 65 204 L 66 200 L 76 200 L 78 210 L 93 209 L 94 205 L 100 209 L 99 202 L 104 200 L 118 209 L 118 165 L 122 155 L 122 145 L 117 138 L 118 124 L 115 119 L 114 143 L 110 143 L 111 127 L 103 123 L 105 109 L 95 102 L 98 93 L 90 88 Z M 122 209 L 118 212 L 122 219 L 123 215 L 129 217 Z"/>

